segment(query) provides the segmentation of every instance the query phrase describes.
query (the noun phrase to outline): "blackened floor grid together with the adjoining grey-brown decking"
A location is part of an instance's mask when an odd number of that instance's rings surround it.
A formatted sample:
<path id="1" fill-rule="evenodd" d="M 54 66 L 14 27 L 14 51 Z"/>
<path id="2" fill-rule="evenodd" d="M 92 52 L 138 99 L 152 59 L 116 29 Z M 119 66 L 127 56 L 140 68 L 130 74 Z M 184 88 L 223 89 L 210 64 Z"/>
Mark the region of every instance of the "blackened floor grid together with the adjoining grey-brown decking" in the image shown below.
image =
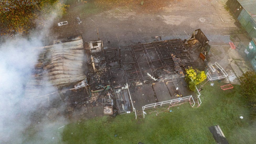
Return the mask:
<path id="1" fill-rule="evenodd" d="M 185 68 L 194 63 L 186 49 L 181 39 L 105 48 L 102 54 L 109 84 L 120 88 L 128 83 L 136 111 L 148 104 L 189 96 L 180 80 Z"/>

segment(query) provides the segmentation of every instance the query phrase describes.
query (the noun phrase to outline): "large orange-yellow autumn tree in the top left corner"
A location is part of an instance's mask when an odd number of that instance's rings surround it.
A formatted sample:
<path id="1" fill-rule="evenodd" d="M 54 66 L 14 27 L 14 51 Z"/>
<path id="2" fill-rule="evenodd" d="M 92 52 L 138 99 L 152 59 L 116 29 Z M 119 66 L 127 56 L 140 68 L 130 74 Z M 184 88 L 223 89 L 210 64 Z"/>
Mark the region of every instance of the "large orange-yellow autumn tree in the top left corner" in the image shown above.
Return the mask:
<path id="1" fill-rule="evenodd" d="M 2 32 L 24 33 L 35 26 L 35 19 L 60 8 L 64 13 L 67 5 L 59 0 L 1 0 L 0 25 Z M 42 17 L 47 19 L 47 17 Z"/>

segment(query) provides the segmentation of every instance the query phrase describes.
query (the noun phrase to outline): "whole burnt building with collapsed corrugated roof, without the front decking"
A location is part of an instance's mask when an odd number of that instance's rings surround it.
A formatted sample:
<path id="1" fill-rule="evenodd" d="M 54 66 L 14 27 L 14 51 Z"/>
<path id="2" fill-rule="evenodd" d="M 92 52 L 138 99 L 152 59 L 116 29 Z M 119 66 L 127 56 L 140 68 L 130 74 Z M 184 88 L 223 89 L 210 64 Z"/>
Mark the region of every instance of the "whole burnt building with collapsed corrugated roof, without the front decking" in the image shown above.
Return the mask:
<path id="1" fill-rule="evenodd" d="M 200 29 L 188 40 L 121 47 L 104 47 L 101 40 L 83 45 L 81 36 L 55 40 L 54 45 L 41 48 L 44 51 L 26 86 L 24 102 L 40 99 L 49 103 L 44 107 L 49 119 L 58 114 L 92 118 L 130 113 L 130 92 L 138 86 L 184 77 L 185 68 L 199 67 L 198 59 L 206 58 L 208 42 Z M 54 88 L 40 93 L 47 86 Z M 58 109 L 59 105 L 65 105 L 65 110 Z"/>

